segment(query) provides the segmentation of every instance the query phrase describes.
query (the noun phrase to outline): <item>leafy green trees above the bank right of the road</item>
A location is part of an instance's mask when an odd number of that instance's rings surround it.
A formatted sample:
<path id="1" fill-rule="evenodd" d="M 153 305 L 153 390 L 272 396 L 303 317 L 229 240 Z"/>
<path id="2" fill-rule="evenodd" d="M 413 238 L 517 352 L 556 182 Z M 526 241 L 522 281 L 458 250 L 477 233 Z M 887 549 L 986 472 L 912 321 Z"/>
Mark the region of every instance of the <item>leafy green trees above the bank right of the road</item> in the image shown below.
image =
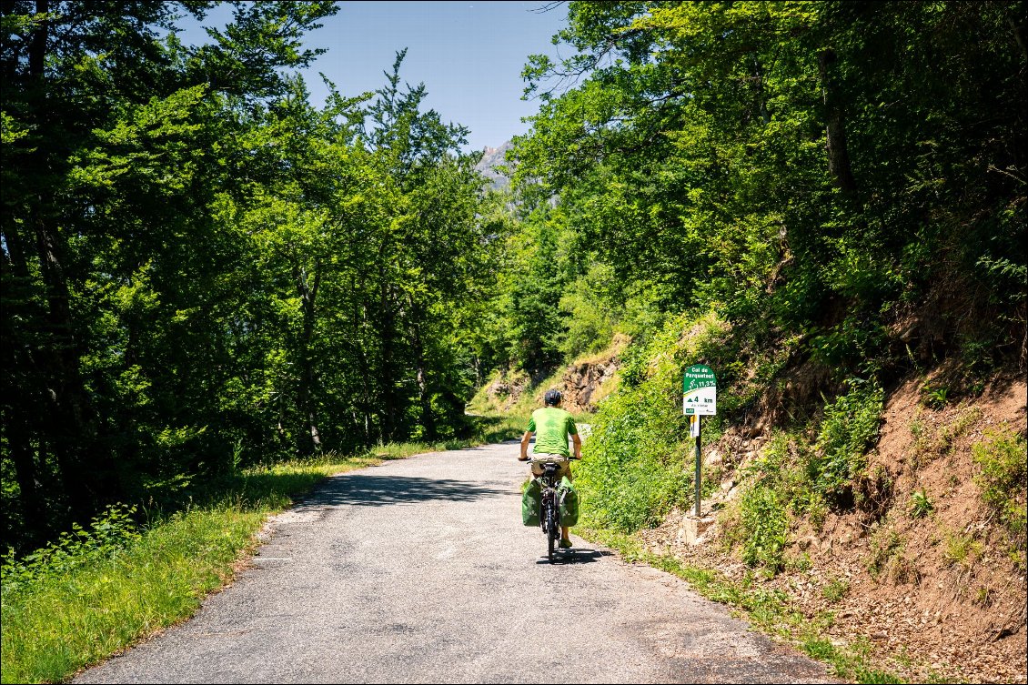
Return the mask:
<path id="1" fill-rule="evenodd" d="M 554 37 L 567 57 L 525 68 L 542 104 L 509 155 L 518 196 L 552 202 L 613 274 L 592 298 L 572 288 L 565 329 L 586 330 L 562 350 L 598 329 L 580 302 L 624 325 L 645 292 L 657 318 L 717 307 L 736 326 L 745 345 L 719 368 L 734 381 L 751 360 L 763 367 L 751 395 L 735 389 L 740 405 L 806 360 L 832 370 L 820 390 L 854 375 L 888 385 L 947 355 L 970 369 L 968 388 L 1023 365 L 1016 15 L 1009 4 L 571 3 Z M 585 271 L 568 262 L 565 283 Z M 898 340 L 902 318 L 915 325 Z M 624 361 L 631 387 L 638 370 Z M 825 439 L 821 486 L 837 498 L 866 445 Z"/>

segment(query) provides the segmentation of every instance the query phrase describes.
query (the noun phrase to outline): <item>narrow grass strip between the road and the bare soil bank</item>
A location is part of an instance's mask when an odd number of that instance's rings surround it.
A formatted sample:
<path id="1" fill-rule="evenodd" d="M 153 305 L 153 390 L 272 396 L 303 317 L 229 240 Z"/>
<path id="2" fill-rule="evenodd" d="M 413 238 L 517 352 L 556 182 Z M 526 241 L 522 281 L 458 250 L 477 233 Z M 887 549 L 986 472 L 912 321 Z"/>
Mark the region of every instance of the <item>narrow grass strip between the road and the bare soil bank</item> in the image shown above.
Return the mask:
<path id="1" fill-rule="evenodd" d="M 739 610 L 739 615 L 755 627 L 792 643 L 808 656 L 827 663 L 834 675 L 857 683 L 900 683 L 896 676 L 875 670 L 870 663 L 872 647 L 866 643 L 840 646 L 824 632 L 832 625 L 831 612 L 806 618 L 792 607 L 788 598 L 778 590 L 767 590 L 752 580 L 734 581 L 710 569 L 683 564 L 670 554 L 646 550 L 638 540 L 610 530 L 576 528 L 575 533 L 617 550 L 629 563 L 641 563 L 673 574 L 693 589 L 714 602 Z"/>

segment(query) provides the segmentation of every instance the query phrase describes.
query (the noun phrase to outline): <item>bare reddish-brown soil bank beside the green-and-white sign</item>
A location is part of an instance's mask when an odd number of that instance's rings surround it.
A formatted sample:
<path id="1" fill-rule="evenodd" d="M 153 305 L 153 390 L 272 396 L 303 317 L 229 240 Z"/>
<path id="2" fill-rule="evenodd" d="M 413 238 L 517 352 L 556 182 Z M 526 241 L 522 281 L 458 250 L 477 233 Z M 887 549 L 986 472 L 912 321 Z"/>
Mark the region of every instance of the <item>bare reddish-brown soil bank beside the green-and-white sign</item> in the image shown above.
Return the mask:
<path id="1" fill-rule="evenodd" d="M 1026 682 L 1024 552 L 1020 563 L 1012 558 L 1006 533 L 982 502 L 971 446 L 998 429 L 1025 435 L 1028 385 L 1024 377 L 997 382 L 974 400 L 941 408 L 926 405 L 922 389 L 911 381 L 888 398 L 869 458 L 871 506 L 830 512 L 820 527 L 794 521 L 793 563 L 760 582 L 783 590 L 808 618 L 833 612 L 829 637 L 867 641 L 875 668 L 904 680 Z M 706 448 L 707 468 L 723 469 L 724 482 L 704 512 L 738 495 L 737 469 L 767 437 L 730 431 Z M 915 491 L 932 505 L 925 515 L 912 513 Z M 693 566 L 733 578 L 752 571 L 720 544 L 717 524 L 688 544 L 683 519 L 672 512 L 639 535 L 652 550 Z"/>

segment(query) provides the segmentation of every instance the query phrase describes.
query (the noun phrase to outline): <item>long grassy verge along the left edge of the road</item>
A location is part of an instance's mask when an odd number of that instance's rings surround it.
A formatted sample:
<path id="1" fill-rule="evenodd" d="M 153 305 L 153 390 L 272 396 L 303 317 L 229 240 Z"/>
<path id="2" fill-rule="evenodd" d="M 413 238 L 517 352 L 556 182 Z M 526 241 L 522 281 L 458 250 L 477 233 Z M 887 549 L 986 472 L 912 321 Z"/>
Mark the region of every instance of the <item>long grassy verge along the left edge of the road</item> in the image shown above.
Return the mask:
<path id="1" fill-rule="evenodd" d="M 14 562 L 6 560 L 0 616 L 0 682 L 62 682 L 79 670 L 191 616 L 232 579 L 257 546 L 268 515 L 325 477 L 425 452 L 514 437 L 497 419 L 470 439 L 380 445 L 352 457 L 325 456 L 241 471 L 210 484 L 171 514 L 149 512 L 136 529 L 125 507 L 88 529 Z M 197 502 L 199 499 L 197 500 Z"/>

